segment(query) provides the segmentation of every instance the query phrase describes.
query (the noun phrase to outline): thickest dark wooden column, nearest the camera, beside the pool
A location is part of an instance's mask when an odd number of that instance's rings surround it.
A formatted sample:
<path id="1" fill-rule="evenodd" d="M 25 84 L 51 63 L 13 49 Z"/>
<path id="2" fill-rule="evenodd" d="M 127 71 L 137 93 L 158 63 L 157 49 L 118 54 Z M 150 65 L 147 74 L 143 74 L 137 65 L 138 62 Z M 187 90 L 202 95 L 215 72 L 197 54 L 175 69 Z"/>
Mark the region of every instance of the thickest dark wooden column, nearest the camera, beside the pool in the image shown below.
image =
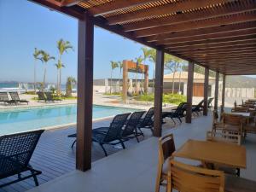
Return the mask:
<path id="1" fill-rule="evenodd" d="M 89 170 L 91 167 L 93 33 L 93 22 L 90 16 L 84 15 L 84 20 L 79 20 L 76 155 L 76 168 L 83 172 Z"/>

